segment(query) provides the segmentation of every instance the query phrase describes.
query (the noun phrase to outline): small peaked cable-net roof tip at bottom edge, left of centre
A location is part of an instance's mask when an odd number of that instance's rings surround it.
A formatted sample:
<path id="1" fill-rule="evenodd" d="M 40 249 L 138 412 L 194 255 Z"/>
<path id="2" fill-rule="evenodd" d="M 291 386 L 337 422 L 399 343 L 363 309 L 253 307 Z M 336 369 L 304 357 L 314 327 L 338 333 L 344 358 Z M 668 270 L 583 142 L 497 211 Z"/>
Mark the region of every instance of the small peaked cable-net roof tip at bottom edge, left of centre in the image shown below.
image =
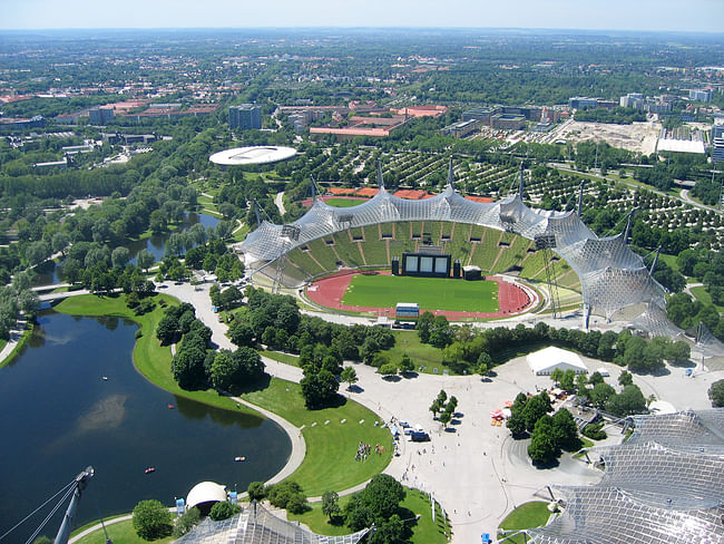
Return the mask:
<path id="1" fill-rule="evenodd" d="M 260 504 L 221 522 L 205 518 L 178 544 L 358 544 L 370 530 L 341 536 L 312 533 L 299 524 L 276 517 Z"/>

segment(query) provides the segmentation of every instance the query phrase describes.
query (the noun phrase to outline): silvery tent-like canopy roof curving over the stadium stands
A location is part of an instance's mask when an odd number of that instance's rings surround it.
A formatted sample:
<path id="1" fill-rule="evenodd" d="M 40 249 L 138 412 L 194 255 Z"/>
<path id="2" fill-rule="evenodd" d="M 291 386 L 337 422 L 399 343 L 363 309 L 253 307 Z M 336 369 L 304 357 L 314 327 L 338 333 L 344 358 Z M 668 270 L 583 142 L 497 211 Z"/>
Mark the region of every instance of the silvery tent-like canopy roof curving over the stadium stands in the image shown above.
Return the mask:
<path id="1" fill-rule="evenodd" d="M 344 221 L 340 221 L 343 218 Z M 548 212 L 528 207 L 519 194 L 498 202 L 470 201 L 456 192 L 452 175 L 446 190 L 431 198 L 410 201 L 388 193 L 380 183 L 378 194 L 358 206 L 337 208 L 315 200 L 312 207 L 293 225 L 300 236 L 284 245 L 284 225 L 264 221 L 236 246 L 251 270 L 261 270 L 285 251 L 307 244 L 322 236 L 354 227 L 400 221 L 464 223 L 507 231 L 528 240 L 550 235 L 555 251 L 578 274 L 586 313 L 616 319 L 617 312 L 638 307 L 638 313 L 650 304 L 665 308 L 665 291 L 649 274 L 643 259 L 625 243 L 623 235 L 598 237 L 575 212 Z M 286 278 L 287 286 L 300 286 Z M 637 314 L 638 314 L 637 313 Z"/>

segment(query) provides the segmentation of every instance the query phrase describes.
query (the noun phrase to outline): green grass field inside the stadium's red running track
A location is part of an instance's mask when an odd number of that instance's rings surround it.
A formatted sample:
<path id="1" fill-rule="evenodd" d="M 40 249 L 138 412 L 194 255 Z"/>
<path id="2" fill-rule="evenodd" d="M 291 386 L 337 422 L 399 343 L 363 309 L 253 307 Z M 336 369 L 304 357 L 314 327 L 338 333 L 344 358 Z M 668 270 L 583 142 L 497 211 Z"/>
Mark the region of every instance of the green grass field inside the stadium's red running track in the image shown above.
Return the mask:
<path id="1" fill-rule="evenodd" d="M 421 310 L 497 312 L 498 283 L 356 274 L 342 297 L 343 304 L 359 307 L 393 308 L 398 302 L 417 302 Z"/>

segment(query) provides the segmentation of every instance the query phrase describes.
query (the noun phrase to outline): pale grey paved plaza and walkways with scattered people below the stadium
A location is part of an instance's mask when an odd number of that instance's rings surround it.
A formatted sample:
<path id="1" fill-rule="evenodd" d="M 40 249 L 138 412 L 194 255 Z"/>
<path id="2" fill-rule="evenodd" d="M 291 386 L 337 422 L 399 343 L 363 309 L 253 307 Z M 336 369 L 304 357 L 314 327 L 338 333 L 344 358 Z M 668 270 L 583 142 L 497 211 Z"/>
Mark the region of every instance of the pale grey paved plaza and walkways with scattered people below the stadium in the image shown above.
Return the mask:
<path id="1" fill-rule="evenodd" d="M 233 349 L 224 336 L 226 326 L 218 322 L 211 310 L 208 285 L 195 290 L 188 284 L 166 284 L 162 292 L 190 302 L 196 313 L 213 330 L 212 340 L 221 348 Z M 583 358 L 589 371 L 605 367 L 610 372 L 607 381 L 617 383 L 622 369 L 615 365 Z M 296 367 L 264 359 L 266 370 L 273 376 L 299 381 Z M 493 534 L 499 523 L 516 506 L 532 499 L 546 499 L 550 484 L 593 484 L 603 473 L 589 468 L 569 454 L 551 469 L 535 468 L 527 456 L 527 441 L 512 440 L 503 427 L 490 425 L 490 412 L 502 408 L 502 402 L 513 400 L 521 391 L 535 392 L 551 386 L 549 377 L 534 376 L 525 357 L 496 367 L 496 376 L 482 380 L 479 376 L 414 375 L 397 380 L 383 379 L 376 369 L 354 365 L 359 382 L 354 392 L 340 392 L 361 402 L 381 417 L 381 424 L 405 420 L 420 425 L 431 437 L 428 443 L 402 440 L 400 456 L 394 457 L 385 473 L 404 485 L 432 493 L 450 516 L 454 543 L 478 543 L 481 533 Z M 662 376 L 635 376 L 634 381 L 646 397 L 655 395 L 676 409 L 710 408 L 706 391 L 713 381 L 724 378 L 724 371 L 705 372 L 699 369 L 693 377 L 681 367 L 667 367 Z M 461 417 L 449 430 L 432 419 L 428 410 L 440 389 L 454 395 Z M 616 427 L 609 430 L 606 443 L 617 443 Z M 300 463 L 300 449 L 292 454 L 291 463 Z M 303 444 L 302 446 L 303 447 Z M 301 451 L 303 457 L 303 449 Z"/>

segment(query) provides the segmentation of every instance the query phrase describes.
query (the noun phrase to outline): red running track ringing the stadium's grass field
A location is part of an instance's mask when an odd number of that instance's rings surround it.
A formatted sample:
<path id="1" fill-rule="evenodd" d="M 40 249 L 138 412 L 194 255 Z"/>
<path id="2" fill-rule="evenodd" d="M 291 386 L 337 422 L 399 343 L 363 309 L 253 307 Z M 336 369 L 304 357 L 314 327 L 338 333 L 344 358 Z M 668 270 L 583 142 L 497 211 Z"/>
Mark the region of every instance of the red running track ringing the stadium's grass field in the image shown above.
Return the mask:
<path id="1" fill-rule="evenodd" d="M 372 312 L 394 317 L 394 308 L 353 307 L 342 304 L 342 297 L 346 292 L 352 278 L 364 272 L 344 271 L 322 278 L 306 289 L 306 295 L 313 302 L 331 308 L 350 312 Z M 374 274 L 390 275 L 390 271 L 375 271 Z M 498 282 L 498 308 L 497 312 L 456 312 L 449 310 L 429 310 L 421 308 L 420 311 L 430 311 L 436 315 L 444 315 L 449 319 L 463 318 L 509 318 L 525 313 L 538 304 L 538 294 L 530 288 L 520 285 L 511 279 L 503 279 L 499 275 L 487 275 L 486 280 Z M 463 281 L 463 280 L 461 280 Z"/>

